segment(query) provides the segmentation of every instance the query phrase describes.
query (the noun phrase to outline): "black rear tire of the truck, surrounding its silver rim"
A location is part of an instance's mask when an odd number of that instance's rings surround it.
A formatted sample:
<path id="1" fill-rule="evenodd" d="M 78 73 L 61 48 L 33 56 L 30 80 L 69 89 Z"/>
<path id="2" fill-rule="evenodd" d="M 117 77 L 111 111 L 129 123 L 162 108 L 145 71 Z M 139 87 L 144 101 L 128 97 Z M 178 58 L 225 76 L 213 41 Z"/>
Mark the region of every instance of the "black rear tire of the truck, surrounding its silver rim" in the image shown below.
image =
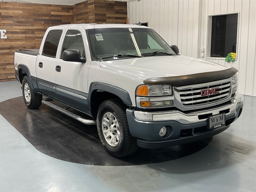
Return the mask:
<path id="1" fill-rule="evenodd" d="M 30 101 L 29 102 L 25 98 L 25 93 L 24 93 L 25 83 L 28 84 L 29 91 L 30 91 Z M 23 95 L 23 100 L 24 100 L 24 102 L 25 102 L 25 104 L 27 105 L 28 108 L 37 109 L 41 106 L 43 96 L 32 90 L 31 84 L 29 83 L 29 80 L 28 80 L 28 76 L 24 76 L 24 78 L 22 80 L 22 95 Z"/>

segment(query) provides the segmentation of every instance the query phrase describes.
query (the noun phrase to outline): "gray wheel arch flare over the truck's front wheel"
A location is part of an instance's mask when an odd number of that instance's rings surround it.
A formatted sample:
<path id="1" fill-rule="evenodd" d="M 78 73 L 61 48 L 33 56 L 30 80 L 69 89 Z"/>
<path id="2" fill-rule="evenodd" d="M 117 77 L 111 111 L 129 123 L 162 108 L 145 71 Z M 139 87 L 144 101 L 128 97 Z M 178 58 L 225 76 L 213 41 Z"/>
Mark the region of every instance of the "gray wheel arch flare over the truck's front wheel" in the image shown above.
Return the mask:
<path id="1" fill-rule="evenodd" d="M 129 93 L 126 90 L 124 90 L 120 87 L 117 87 L 115 85 L 108 84 L 108 83 L 92 82 L 90 84 L 89 96 L 88 96 L 88 106 L 89 106 L 91 114 L 93 112 L 93 106 L 92 106 L 92 103 L 93 103 L 92 101 L 94 99 L 93 95 L 97 90 L 112 93 L 112 94 L 116 95 L 117 97 L 119 97 L 124 102 L 125 105 L 132 106 L 132 100 L 130 98 Z"/>

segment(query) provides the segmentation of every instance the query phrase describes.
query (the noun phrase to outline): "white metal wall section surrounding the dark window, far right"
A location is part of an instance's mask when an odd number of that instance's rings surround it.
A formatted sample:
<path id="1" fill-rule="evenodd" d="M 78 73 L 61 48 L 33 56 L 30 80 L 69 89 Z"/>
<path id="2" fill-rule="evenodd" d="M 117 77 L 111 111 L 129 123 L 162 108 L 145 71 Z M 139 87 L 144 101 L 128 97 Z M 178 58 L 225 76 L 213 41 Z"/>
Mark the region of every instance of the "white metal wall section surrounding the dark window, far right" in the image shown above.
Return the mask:
<path id="1" fill-rule="evenodd" d="M 237 60 L 206 59 L 239 70 L 238 91 L 256 96 L 256 1 L 255 0 L 204 0 L 202 1 L 201 47 L 207 48 L 208 15 L 239 12 Z M 204 59 L 204 58 L 201 58 Z"/>

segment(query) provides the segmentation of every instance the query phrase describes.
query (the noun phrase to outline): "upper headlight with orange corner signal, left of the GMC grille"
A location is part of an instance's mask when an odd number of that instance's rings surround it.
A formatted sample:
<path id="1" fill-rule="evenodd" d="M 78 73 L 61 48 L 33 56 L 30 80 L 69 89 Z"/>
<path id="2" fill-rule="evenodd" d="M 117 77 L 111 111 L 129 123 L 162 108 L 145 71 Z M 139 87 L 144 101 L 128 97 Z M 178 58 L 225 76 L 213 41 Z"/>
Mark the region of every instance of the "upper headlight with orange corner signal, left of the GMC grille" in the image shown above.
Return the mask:
<path id="1" fill-rule="evenodd" d="M 171 85 L 140 85 L 136 90 L 137 96 L 168 96 L 172 95 Z"/>

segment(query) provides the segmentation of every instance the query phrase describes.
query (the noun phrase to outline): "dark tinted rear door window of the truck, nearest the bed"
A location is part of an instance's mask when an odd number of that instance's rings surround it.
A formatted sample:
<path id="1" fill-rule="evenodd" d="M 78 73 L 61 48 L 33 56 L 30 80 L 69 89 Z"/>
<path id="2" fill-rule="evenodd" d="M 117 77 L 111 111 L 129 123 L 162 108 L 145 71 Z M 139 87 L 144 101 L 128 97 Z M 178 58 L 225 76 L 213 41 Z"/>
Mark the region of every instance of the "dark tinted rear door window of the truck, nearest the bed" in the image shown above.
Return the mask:
<path id="1" fill-rule="evenodd" d="M 42 55 L 48 57 L 56 57 L 61 34 L 62 30 L 49 31 L 44 42 Z"/>

